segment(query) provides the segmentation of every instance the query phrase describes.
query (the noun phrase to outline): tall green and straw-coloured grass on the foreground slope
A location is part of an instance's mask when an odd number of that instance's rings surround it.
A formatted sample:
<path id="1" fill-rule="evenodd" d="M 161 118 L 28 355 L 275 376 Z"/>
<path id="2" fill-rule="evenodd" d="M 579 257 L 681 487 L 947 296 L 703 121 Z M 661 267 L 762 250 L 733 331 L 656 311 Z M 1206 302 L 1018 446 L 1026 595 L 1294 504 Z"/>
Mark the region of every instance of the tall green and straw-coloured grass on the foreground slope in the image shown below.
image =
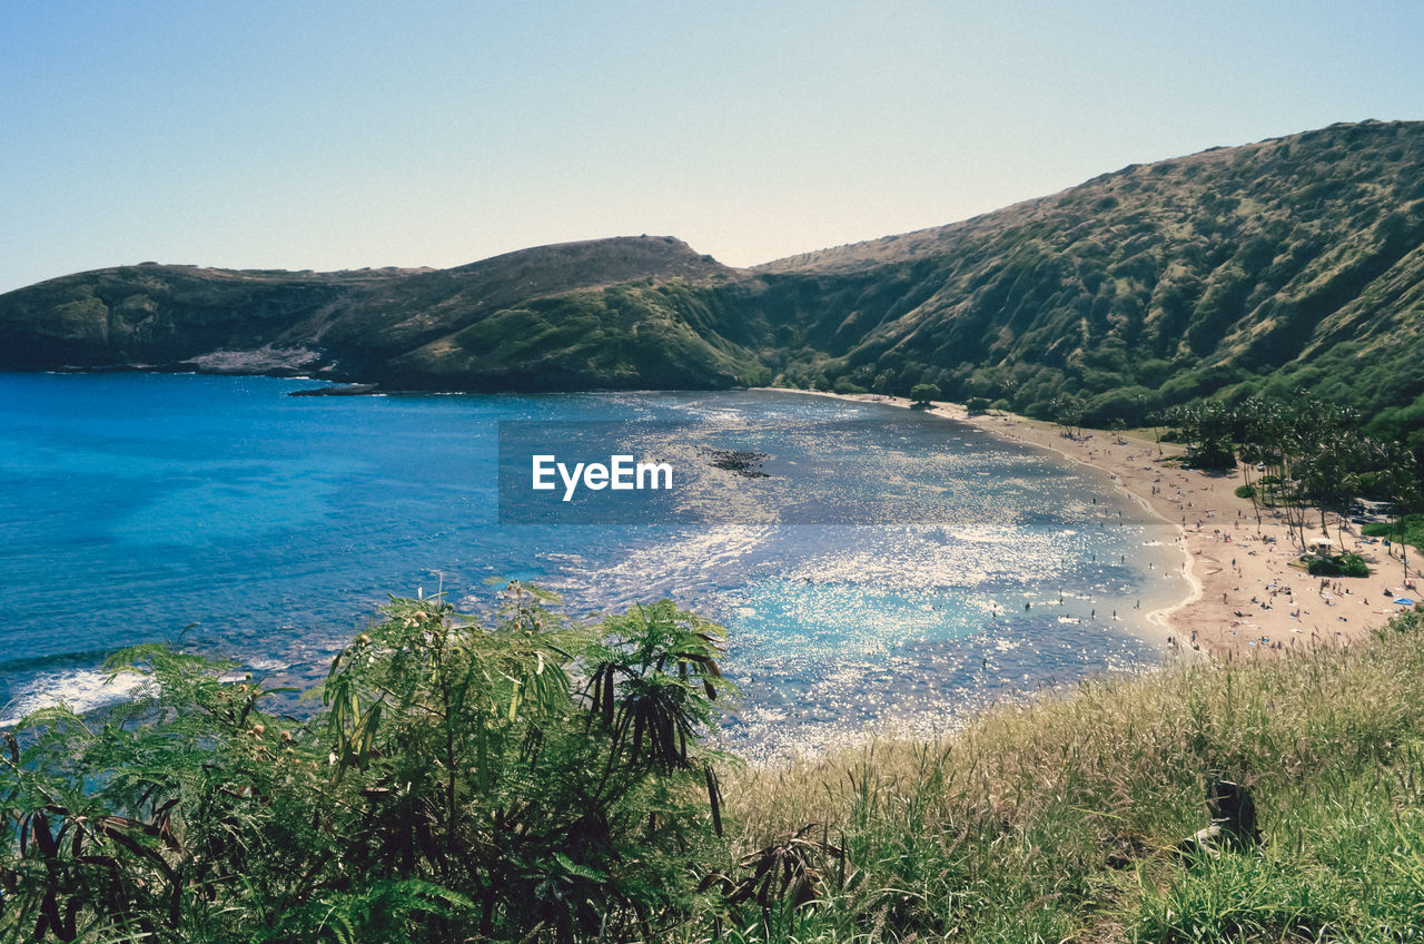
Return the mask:
<path id="1" fill-rule="evenodd" d="M 1420 940 L 1421 643 L 1411 613 L 1349 647 L 1089 682 L 938 743 L 742 771 L 746 848 L 815 821 L 859 868 L 742 937 Z M 1176 851 L 1215 777 L 1252 786 L 1259 850 Z"/>

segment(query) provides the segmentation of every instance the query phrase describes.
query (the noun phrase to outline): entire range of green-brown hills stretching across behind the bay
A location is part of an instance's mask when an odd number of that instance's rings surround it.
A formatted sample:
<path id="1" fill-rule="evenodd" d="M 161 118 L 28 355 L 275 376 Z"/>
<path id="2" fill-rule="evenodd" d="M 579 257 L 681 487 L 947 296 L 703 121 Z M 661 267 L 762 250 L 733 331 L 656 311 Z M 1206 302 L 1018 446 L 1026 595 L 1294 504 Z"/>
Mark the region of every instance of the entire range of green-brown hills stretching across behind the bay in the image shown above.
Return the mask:
<path id="1" fill-rule="evenodd" d="M 1304 388 L 1424 426 L 1424 123 L 1132 165 L 732 270 L 669 237 L 443 271 L 140 265 L 0 295 L 0 366 L 318 371 L 422 389 L 796 386 L 1141 419 Z"/>

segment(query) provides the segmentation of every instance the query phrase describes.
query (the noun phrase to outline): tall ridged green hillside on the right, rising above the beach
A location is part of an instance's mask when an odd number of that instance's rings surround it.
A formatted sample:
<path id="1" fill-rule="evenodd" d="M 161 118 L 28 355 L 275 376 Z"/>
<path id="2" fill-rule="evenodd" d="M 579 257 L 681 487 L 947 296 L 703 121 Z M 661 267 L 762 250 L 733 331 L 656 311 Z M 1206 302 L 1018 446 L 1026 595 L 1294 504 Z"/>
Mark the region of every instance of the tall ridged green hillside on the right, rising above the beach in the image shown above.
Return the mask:
<path id="1" fill-rule="evenodd" d="M 1418 425 L 1421 245 L 1424 124 L 1367 123 L 1126 167 L 760 272 L 790 297 L 862 289 L 820 312 L 832 359 L 793 365 L 802 381 L 894 372 L 897 389 L 1037 415 L 1075 392 L 1091 422 L 1303 386 Z"/>

